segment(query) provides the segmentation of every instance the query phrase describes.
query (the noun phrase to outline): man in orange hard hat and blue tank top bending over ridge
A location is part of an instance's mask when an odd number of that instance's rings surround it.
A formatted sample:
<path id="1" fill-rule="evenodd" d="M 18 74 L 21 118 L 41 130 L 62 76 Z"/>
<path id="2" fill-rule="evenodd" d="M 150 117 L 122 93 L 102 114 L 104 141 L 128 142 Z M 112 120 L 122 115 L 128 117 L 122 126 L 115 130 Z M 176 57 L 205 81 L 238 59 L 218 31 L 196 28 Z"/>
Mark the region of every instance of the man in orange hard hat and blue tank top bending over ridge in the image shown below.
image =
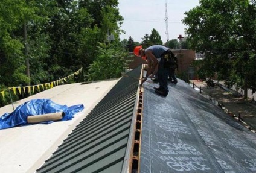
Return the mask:
<path id="1" fill-rule="evenodd" d="M 159 87 L 154 87 L 155 92 L 162 96 L 168 95 L 168 70 L 170 64 L 168 64 L 168 57 L 174 56 L 173 52 L 165 46 L 153 45 L 147 49 L 142 49 L 142 46 L 136 46 L 133 53 L 147 60 L 148 69 L 146 77 L 142 79 L 143 84 L 147 78 L 153 78 L 158 73 Z"/>

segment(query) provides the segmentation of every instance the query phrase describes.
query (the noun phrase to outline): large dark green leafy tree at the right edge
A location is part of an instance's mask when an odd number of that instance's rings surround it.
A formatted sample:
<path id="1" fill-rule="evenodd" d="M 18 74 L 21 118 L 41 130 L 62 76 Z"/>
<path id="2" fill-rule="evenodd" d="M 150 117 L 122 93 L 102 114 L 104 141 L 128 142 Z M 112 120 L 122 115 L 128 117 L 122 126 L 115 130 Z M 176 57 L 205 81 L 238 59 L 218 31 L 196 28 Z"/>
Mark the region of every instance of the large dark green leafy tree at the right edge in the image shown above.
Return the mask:
<path id="1" fill-rule="evenodd" d="M 256 12 L 249 0 L 200 0 L 200 6 L 185 13 L 188 42 L 196 52 L 205 54 L 204 71 L 219 74 L 219 80 L 247 86 L 256 91 L 255 63 Z M 254 66 L 254 65 L 253 65 Z M 241 78 L 243 80 L 241 80 Z M 247 94 L 245 93 L 245 98 Z"/>

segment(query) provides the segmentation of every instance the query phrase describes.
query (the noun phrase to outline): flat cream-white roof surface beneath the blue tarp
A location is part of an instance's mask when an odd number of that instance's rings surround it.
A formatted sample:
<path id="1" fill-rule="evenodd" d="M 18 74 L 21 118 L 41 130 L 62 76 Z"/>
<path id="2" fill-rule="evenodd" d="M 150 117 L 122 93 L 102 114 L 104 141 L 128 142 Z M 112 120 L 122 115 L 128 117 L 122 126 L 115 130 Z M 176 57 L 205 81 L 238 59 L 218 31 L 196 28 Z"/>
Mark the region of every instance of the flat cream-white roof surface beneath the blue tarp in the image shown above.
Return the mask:
<path id="1" fill-rule="evenodd" d="M 31 99 L 51 99 L 57 104 L 68 106 L 83 104 L 85 109 L 77 113 L 71 121 L 0 130 L 1 172 L 35 172 L 118 80 L 60 85 L 14 102 L 14 109 Z M 11 112 L 11 104 L 0 108 L 0 116 Z"/>

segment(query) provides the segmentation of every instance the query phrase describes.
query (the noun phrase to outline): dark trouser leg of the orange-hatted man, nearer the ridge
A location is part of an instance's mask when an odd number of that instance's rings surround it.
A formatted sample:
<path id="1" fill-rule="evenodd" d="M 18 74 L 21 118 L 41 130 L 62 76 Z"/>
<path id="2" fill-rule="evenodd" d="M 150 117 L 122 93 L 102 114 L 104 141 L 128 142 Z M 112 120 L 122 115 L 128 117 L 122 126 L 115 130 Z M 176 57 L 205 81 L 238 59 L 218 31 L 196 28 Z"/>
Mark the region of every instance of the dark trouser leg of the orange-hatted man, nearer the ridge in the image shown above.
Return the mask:
<path id="1" fill-rule="evenodd" d="M 159 81 L 160 88 L 167 93 L 169 92 L 168 71 L 169 71 L 169 68 L 164 68 L 164 58 L 161 58 L 161 61 L 158 67 L 158 81 Z"/>

